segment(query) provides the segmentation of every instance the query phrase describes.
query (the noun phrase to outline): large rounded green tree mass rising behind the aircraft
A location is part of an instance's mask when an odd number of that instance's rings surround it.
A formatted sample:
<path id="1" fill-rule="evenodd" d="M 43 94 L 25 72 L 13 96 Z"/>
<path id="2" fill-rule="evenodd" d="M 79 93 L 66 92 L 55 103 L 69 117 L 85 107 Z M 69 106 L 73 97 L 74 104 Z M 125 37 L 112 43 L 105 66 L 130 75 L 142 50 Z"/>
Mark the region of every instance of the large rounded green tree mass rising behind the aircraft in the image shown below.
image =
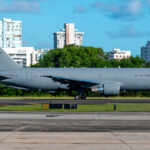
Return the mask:
<path id="1" fill-rule="evenodd" d="M 101 48 L 68 45 L 43 55 L 36 67 L 104 67 Z"/>

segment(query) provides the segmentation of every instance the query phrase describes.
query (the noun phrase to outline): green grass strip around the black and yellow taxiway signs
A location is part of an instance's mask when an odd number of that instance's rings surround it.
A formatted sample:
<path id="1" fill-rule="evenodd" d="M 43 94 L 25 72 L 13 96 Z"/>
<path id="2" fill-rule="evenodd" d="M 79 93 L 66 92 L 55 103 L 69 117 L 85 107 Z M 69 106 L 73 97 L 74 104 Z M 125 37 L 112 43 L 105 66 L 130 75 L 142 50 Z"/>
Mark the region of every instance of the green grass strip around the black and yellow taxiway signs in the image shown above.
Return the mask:
<path id="1" fill-rule="evenodd" d="M 12 111 L 79 111 L 79 112 L 114 112 L 113 104 L 104 105 L 78 105 L 77 110 L 52 109 L 43 110 L 42 105 L 18 105 L 18 106 L 0 106 L 0 110 Z M 117 104 L 117 112 L 136 112 L 136 111 L 150 111 L 150 104 Z"/>

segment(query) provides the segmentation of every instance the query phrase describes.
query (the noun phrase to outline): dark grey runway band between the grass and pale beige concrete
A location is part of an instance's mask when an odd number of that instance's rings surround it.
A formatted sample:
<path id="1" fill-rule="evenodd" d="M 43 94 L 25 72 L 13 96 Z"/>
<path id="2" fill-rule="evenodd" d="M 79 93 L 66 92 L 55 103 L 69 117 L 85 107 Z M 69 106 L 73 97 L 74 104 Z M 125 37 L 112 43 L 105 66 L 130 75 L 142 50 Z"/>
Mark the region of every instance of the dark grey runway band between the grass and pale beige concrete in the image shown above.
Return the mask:
<path id="1" fill-rule="evenodd" d="M 0 112 L 0 131 L 150 131 L 150 112 Z"/>

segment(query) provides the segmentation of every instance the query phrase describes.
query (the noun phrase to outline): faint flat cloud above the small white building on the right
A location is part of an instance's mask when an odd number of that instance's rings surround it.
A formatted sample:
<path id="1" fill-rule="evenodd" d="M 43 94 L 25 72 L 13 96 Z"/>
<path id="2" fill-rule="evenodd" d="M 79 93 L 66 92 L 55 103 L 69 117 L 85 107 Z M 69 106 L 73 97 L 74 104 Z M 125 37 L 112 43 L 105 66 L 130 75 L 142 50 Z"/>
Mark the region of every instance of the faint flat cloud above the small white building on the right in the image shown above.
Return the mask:
<path id="1" fill-rule="evenodd" d="M 124 26 L 120 30 L 117 31 L 106 31 L 106 34 L 110 38 L 128 38 L 128 37 L 143 37 L 149 36 L 150 31 L 138 31 L 138 29 L 134 25 Z"/>

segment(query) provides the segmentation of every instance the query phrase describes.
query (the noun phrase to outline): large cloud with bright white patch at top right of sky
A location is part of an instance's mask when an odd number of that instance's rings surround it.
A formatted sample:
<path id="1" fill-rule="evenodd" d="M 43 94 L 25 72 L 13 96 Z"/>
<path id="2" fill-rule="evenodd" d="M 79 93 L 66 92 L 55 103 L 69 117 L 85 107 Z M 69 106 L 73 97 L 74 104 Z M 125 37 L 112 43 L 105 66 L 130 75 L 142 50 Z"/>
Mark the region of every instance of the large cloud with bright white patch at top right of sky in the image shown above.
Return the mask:
<path id="1" fill-rule="evenodd" d="M 92 8 L 103 12 L 111 19 L 135 20 L 142 15 L 142 0 L 126 0 L 118 2 L 98 1 L 92 4 Z"/>

